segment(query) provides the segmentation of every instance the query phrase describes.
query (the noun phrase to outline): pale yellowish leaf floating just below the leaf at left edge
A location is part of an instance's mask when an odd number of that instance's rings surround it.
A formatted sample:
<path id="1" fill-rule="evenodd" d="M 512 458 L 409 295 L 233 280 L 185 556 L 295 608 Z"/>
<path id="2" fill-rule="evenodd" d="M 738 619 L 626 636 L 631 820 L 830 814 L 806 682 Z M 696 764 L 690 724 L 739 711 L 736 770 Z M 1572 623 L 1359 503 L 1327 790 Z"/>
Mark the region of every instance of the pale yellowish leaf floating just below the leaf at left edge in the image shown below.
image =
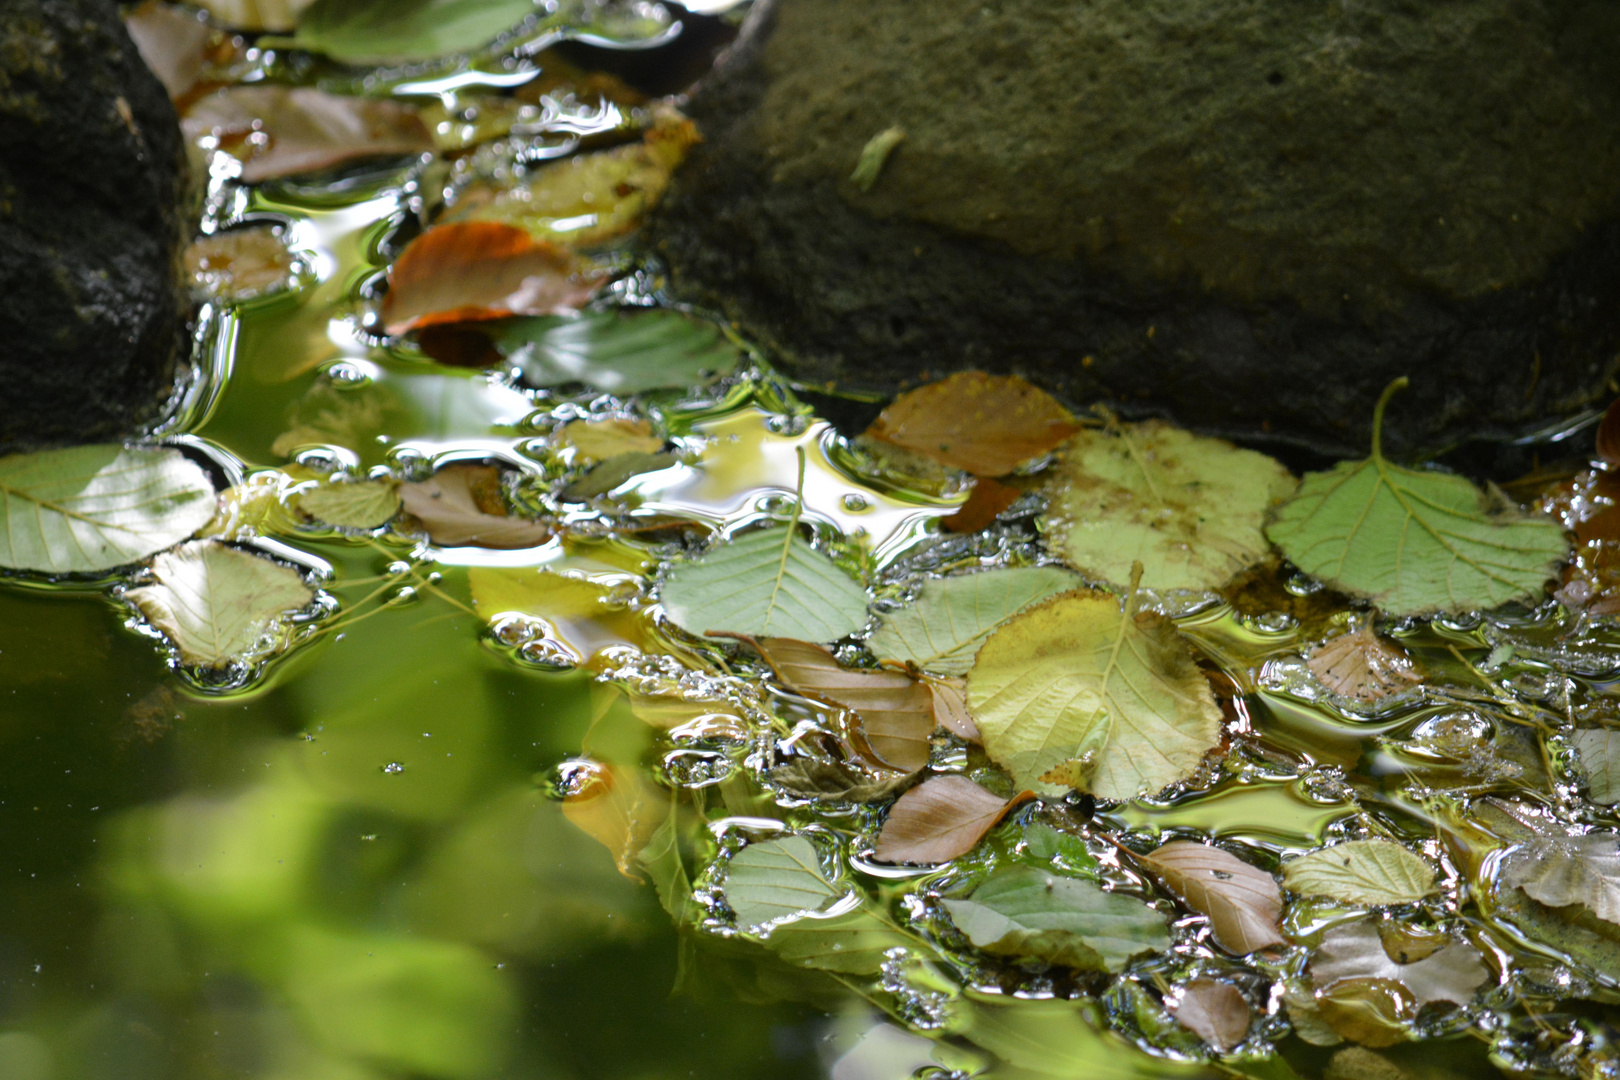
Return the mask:
<path id="1" fill-rule="evenodd" d="M 156 585 L 128 599 L 186 664 L 225 667 L 251 659 L 282 615 L 314 599 L 303 575 L 215 541 L 191 541 L 152 560 Z"/>

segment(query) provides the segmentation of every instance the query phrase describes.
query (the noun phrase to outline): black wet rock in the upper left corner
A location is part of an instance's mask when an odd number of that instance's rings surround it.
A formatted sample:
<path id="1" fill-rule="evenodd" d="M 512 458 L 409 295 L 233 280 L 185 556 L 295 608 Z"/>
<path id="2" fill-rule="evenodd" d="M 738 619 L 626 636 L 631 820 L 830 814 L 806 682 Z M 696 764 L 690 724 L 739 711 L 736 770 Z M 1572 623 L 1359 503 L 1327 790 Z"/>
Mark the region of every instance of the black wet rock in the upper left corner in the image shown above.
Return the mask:
<path id="1" fill-rule="evenodd" d="M 0 0 L 0 447 L 157 415 L 183 189 L 175 110 L 112 0 Z"/>

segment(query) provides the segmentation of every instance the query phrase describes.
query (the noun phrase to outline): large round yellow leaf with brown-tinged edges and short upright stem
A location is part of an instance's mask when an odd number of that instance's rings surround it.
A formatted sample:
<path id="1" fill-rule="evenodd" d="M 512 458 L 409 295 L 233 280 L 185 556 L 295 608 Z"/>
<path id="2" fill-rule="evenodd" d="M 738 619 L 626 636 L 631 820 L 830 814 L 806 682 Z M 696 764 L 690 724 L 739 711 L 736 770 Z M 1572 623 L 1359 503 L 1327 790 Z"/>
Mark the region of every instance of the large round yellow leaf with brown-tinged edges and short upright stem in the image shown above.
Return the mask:
<path id="1" fill-rule="evenodd" d="M 1019 787 L 1059 771 L 1102 798 L 1186 779 L 1221 732 L 1174 623 L 1102 593 L 1058 596 L 996 630 L 967 674 L 967 704 Z"/>

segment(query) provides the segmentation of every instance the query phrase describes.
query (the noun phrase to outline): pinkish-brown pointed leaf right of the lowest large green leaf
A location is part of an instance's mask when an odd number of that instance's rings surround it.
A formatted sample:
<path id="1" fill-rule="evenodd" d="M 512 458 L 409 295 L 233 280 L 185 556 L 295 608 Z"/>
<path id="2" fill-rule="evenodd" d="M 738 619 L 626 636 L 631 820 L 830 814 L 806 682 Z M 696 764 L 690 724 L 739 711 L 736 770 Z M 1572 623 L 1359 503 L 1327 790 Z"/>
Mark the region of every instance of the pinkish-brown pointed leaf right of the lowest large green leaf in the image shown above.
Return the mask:
<path id="1" fill-rule="evenodd" d="M 1221 949 L 1246 955 L 1283 942 L 1277 931 L 1283 894 L 1259 866 L 1192 840 L 1171 840 L 1142 861 L 1183 904 L 1209 916 Z"/>

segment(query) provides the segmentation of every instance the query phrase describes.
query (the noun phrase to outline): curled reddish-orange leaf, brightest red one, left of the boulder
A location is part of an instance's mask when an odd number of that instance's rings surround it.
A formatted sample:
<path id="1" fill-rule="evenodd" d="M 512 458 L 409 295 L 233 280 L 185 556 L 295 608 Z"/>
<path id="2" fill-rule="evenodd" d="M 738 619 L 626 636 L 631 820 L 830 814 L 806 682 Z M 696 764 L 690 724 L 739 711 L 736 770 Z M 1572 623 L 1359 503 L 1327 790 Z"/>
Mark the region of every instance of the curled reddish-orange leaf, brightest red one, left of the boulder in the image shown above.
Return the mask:
<path id="1" fill-rule="evenodd" d="M 601 283 L 572 253 L 494 222 L 436 225 L 389 269 L 382 324 L 405 334 L 449 322 L 577 311 Z"/>

